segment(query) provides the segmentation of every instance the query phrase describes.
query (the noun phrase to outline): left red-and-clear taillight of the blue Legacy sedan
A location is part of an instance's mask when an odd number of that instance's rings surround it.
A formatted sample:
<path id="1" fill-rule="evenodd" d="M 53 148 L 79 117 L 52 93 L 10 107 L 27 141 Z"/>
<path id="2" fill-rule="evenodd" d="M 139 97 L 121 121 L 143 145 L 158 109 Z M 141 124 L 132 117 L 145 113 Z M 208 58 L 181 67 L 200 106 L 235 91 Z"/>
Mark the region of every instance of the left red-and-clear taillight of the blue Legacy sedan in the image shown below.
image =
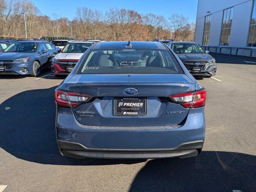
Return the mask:
<path id="1" fill-rule="evenodd" d="M 62 90 L 55 90 L 55 101 L 59 107 L 75 108 L 78 105 L 88 102 L 91 96 L 73 93 Z"/>

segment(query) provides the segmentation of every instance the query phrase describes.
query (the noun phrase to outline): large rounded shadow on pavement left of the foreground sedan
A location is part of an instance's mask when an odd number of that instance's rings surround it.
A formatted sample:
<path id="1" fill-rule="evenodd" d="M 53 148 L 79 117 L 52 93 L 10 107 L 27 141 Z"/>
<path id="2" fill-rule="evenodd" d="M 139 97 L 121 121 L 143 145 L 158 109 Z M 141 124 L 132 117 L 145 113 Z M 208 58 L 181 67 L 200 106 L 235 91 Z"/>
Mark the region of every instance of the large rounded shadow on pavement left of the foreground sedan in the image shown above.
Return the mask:
<path id="1" fill-rule="evenodd" d="M 41 164 L 84 165 L 92 159 L 63 157 L 55 132 L 55 87 L 28 90 L 0 104 L 0 148 L 16 158 Z M 132 164 L 145 160 L 96 160 L 98 164 Z"/>

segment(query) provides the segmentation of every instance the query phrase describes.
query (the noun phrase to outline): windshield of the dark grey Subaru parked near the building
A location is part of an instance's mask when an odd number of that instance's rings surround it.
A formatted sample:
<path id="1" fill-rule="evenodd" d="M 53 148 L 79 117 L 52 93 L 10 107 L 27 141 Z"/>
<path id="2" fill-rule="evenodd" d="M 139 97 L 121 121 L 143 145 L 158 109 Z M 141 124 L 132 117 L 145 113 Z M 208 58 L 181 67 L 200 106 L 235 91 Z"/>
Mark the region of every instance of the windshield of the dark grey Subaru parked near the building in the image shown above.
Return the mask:
<path id="1" fill-rule="evenodd" d="M 199 44 L 172 44 L 172 50 L 176 53 L 204 53 L 203 48 Z"/>

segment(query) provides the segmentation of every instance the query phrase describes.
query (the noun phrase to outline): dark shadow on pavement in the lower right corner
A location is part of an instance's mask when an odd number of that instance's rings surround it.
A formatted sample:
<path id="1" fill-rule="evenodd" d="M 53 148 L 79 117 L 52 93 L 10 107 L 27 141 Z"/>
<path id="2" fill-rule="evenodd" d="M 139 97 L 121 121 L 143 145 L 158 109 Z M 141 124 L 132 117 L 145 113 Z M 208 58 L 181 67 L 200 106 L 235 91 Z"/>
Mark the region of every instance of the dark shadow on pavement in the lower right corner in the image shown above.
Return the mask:
<path id="1" fill-rule="evenodd" d="M 252 192 L 255 181 L 256 156 L 203 151 L 194 158 L 148 161 L 130 192 Z"/>

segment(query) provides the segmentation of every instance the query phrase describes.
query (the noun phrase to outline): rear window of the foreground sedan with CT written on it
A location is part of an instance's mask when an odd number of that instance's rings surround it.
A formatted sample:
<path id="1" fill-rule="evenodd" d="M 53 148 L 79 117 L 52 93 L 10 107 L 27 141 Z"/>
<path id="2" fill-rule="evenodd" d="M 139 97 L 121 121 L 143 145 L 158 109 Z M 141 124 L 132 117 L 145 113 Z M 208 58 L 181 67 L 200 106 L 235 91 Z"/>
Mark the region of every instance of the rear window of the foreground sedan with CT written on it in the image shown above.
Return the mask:
<path id="1" fill-rule="evenodd" d="M 81 61 L 79 74 L 183 74 L 169 50 L 91 50 Z"/>

